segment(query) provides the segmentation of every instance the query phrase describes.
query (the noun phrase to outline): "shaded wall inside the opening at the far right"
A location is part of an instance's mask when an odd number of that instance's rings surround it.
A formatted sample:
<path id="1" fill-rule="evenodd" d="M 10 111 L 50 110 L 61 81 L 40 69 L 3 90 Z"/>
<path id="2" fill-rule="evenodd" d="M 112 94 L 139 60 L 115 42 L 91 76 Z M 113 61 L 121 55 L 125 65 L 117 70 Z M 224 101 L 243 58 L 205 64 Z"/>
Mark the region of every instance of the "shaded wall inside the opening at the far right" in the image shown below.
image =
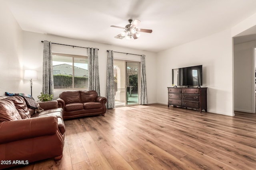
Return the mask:
<path id="1" fill-rule="evenodd" d="M 254 57 L 256 41 L 234 45 L 234 110 L 255 113 Z"/>

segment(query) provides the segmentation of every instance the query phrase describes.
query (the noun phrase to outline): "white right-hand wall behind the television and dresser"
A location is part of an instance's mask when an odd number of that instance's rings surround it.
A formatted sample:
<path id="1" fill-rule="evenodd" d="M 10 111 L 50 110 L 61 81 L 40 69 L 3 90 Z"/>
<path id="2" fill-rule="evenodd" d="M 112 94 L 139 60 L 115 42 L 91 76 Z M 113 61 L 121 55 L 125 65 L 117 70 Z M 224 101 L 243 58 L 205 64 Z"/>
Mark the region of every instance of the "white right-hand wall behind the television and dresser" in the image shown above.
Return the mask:
<path id="1" fill-rule="evenodd" d="M 172 68 L 202 64 L 208 112 L 234 115 L 232 45 L 231 30 L 227 29 L 158 53 L 157 102 L 168 103 Z"/>

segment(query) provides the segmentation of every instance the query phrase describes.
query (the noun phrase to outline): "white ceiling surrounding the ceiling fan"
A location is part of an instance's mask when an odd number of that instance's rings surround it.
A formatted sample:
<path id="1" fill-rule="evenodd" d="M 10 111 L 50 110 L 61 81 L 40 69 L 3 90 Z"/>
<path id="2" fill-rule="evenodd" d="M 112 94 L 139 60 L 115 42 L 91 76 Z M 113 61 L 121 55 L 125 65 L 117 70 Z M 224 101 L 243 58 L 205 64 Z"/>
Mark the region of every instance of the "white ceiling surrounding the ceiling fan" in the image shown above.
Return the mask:
<path id="1" fill-rule="evenodd" d="M 228 29 L 256 13 L 256 0 L 6 0 L 24 31 L 158 52 Z M 128 19 L 152 29 L 116 39 Z M 49 40 L 51 41 L 51 40 Z M 59 43 L 59 42 L 55 42 Z"/>

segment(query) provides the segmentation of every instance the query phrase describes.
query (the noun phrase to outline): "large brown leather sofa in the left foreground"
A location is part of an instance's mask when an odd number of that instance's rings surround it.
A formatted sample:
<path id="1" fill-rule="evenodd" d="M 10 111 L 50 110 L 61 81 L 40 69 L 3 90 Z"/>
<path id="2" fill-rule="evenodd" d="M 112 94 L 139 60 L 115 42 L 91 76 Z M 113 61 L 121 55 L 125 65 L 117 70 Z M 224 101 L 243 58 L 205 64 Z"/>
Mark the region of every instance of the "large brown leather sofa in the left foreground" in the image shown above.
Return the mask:
<path id="1" fill-rule="evenodd" d="M 65 125 L 57 101 L 41 102 L 34 113 L 21 96 L 0 100 L 0 169 L 37 160 L 60 160 Z"/>

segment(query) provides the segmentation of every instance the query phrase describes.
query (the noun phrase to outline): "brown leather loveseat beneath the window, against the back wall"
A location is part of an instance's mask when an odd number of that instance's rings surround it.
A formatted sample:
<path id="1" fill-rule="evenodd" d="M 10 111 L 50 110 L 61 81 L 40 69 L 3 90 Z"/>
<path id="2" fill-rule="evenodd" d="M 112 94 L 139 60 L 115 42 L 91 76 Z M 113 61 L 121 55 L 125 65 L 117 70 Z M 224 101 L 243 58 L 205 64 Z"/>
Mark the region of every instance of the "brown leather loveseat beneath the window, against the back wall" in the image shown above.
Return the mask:
<path id="1" fill-rule="evenodd" d="M 59 107 L 63 108 L 63 118 L 74 118 L 87 115 L 104 115 L 107 99 L 98 96 L 94 90 L 65 91 L 57 99 Z"/>

